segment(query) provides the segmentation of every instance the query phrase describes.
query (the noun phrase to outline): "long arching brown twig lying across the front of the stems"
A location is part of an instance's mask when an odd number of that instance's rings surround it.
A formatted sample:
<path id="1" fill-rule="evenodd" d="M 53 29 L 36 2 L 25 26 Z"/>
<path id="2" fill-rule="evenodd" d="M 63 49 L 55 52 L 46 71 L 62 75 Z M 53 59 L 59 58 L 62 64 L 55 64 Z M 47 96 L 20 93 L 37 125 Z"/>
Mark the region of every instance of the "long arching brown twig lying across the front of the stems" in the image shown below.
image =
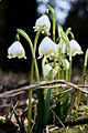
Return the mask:
<path id="1" fill-rule="evenodd" d="M 45 88 L 45 85 L 48 85 L 48 88 L 51 88 L 50 84 L 53 85 L 55 83 L 66 84 L 68 86 L 72 86 L 73 89 L 79 90 L 82 93 L 88 94 L 88 91 L 86 89 L 82 90 L 78 85 L 75 85 L 75 84 L 73 84 L 70 82 L 66 82 L 65 80 L 53 80 L 53 81 L 42 81 L 40 84 L 32 84 L 32 85 L 26 85 L 26 86 L 18 88 L 15 90 L 7 91 L 7 92 L 1 93 L 0 98 L 10 98 L 11 95 L 15 96 L 15 95 L 20 94 L 20 92 L 24 93 L 24 91 L 28 91 L 29 89 L 32 89 L 32 90 L 41 89 L 40 86 L 42 86 L 42 89 L 43 89 L 43 86 Z M 58 86 L 59 86 L 59 84 L 58 84 Z M 54 86 L 54 88 L 57 88 L 57 86 Z"/>

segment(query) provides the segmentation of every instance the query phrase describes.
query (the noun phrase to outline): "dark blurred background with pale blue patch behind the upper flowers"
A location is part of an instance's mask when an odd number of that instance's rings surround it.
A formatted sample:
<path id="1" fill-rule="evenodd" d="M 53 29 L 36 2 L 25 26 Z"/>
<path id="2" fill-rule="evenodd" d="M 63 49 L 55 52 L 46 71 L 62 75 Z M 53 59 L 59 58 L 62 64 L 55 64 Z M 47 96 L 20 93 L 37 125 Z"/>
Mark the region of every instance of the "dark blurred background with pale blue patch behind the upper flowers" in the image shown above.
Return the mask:
<path id="1" fill-rule="evenodd" d="M 34 40 L 33 27 L 36 19 L 51 4 L 56 14 L 56 23 L 66 30 L 68 27 L 85 52 L 88 45 L 88 0 L 0 0 L 0 69 L 28 73 L 31 68 L 30 45 L 21 37 L 28 60 L 7 58 L 8 48 L 14 42 L 16 29 L 23 29 Z M 37 54 L 37 52 L 36 52 Z M 84 60 L 84 57 L 80 55 Z M 75 58 L 75 65 L 81 59 Z M 41 61 L 38 61 L 38 65 Z M 80 66 L 80 64 L 78 65 Z M 41 65 L 40 65 L 41 68 Z M 41 70 L 41 69 L 40 69 Z"/>

